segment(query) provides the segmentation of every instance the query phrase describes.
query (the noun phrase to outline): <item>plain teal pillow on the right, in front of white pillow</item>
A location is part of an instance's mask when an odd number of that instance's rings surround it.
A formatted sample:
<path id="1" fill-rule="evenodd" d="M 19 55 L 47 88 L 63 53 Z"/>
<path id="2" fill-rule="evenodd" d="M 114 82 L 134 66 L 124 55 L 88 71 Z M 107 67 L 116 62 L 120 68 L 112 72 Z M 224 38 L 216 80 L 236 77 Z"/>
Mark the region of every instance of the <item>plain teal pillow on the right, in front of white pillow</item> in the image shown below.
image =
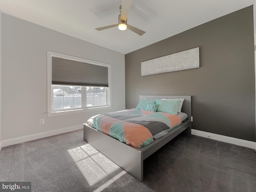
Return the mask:
<path id="1" fill-rule="evenodd" d="M 158 104 L 156 111 L 160 111 L 164 113 L 172 113 L 174 115 L 177 115 L 178 107 L 180 105 L 180 100 L 170 100 L 170 101 L 156 100 L 156 104 Z"/>

